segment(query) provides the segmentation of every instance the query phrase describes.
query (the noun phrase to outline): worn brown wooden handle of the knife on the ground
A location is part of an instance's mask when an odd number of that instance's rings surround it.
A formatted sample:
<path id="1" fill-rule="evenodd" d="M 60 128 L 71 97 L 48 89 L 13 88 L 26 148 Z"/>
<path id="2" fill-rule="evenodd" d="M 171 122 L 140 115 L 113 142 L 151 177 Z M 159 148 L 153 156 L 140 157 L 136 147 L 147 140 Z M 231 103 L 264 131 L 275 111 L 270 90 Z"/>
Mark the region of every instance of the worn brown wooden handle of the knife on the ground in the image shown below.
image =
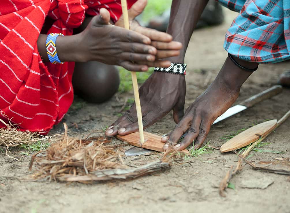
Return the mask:
<path id="1" fill-rule="evenodd" d="M 264 101 L 266 99 L 269 99 L 279 93 L 282 92 L 282 86 L 281 85 L 275 85 L 267 90 L 264 90 L 263 92 L 260 92 L 247 100 L 244 100 L 240 103 L 240 105 L 244 105 L 247 108 L 252 107 L 256 103 L 259 103 L 261 101 Z"/>

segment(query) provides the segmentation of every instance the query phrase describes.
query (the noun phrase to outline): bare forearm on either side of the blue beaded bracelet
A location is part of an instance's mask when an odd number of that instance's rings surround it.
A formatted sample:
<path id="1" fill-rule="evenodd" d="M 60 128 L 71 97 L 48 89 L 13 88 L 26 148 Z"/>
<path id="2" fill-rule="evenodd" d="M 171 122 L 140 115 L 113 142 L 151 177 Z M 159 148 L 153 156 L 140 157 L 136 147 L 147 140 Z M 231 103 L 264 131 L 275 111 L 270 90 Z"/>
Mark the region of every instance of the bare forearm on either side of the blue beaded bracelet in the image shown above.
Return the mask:
<path id="1" fill-rule="evenodd" d="M 39 54 L 44 62 L 49 62 L 47 51 L 46 51 L 46 34 L 40 34 L 37 40 L 37 48 Z M 79 54 L 77 51 L 78 47 L 78 36 L 58 36 L 56 40 L 57 55 L 60 61 L 79 61 Z"/>

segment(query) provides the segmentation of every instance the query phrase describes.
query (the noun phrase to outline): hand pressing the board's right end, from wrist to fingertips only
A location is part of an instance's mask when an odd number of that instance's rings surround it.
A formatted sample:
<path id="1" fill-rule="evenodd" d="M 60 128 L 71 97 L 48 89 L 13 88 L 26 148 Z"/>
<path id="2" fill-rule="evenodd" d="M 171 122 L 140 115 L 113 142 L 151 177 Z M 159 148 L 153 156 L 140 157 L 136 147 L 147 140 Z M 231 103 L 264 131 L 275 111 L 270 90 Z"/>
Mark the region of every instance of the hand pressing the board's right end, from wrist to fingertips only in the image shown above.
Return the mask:
<path id="1" fill-rule="evenodd" d="M 184 117 L 176 125 L 172 133 L 161 139 L 166 142 L 164 150 L 175 146 L 183 150 L 194 141 L 194 148 L 199 148 L 209 133 L 213 122 L 222 115 L 238 98 L 239 92 L 231 90 L 222 83 L 214 82 L 187 108 Z M 177 144 L 180 137 L 188 130 L 188 134 Z M 169 138 L 169 139 L 168 139 Z M 177 145 L 176 145 L 177 144 Z"/>

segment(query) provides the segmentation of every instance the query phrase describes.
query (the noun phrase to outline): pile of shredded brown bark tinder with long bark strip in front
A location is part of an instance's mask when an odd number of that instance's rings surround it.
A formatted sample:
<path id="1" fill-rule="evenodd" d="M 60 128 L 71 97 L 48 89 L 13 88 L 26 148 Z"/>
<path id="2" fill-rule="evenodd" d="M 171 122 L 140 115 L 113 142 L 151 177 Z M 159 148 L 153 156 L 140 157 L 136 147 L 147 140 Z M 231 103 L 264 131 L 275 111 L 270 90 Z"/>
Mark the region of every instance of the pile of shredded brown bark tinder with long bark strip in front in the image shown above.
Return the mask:
<path id="1" fill-rule="evenodd" d="M 122 162 L 117 150 L 121 146 L 109 145 L 111 138 L 99 136 L 75 139 L 67 136 L 52 144 L 46 151 L 32 156 L 29 169 L 34 161 L 37 171 L 35 179 L 88 182 L 136 178 L 141 175 L 169 168 L 168 162 L 153 162 L 142 167 L 130 168 Z"/>

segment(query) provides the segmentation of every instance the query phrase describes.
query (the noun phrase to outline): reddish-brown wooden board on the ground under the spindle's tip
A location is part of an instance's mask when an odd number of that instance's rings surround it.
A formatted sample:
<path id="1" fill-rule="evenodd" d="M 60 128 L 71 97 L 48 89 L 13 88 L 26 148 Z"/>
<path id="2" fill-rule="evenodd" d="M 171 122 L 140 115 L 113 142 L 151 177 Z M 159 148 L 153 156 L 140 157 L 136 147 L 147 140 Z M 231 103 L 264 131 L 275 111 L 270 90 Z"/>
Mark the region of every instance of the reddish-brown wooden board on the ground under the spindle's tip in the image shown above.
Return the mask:
<path id="1" fill-rule="evenodd" d="M 142 147 L 154 151 L 164 152 L 163 146 L 164 143 L 161 142 L 161 136 L 154 135 L 152 133 L 144 132 L 144 138 L 145 142 L 144 144 L 140 144 L 139 141 L 139 133 L 131 133 L 128 135 L 117 135 L 117 138 L 121 141 L 128 142 L 128 144 L 131 144 L 132 146 Z M 182 153 L 189 154 L 189 151 L 187 149 L 184 149 L 180 151 Z"/>

